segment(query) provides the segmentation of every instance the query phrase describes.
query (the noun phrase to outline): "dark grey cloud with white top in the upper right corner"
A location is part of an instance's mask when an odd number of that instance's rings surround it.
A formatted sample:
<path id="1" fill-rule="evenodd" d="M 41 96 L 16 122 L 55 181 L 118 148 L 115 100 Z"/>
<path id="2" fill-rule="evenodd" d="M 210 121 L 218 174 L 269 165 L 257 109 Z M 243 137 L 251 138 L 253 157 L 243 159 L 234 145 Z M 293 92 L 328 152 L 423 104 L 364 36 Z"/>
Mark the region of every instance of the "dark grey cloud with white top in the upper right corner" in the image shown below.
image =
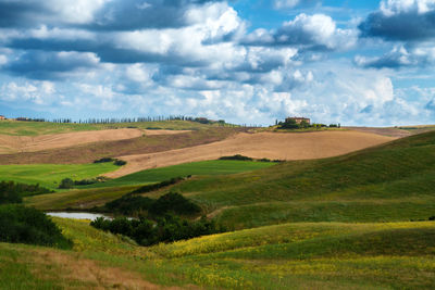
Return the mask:
<path id="1" fill-rule="evenodd" d="M 363 37 L 423 41 L 435 36 L 435 1 L 383 0 L 360 25 Z"/>

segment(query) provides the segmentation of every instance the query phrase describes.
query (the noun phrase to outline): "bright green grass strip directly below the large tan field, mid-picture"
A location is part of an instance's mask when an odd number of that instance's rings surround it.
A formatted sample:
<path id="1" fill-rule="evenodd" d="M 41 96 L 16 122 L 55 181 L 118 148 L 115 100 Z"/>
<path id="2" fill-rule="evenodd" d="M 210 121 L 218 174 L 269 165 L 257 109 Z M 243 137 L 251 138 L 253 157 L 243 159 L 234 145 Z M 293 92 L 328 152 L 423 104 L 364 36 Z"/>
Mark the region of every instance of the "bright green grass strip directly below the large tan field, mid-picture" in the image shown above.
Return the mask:
<path id="1" fill-rule="evenodd" d="M 200 161 L 200 162 L 185 163 L 167 167 L 147 169 L 129 174 L 116 179 L 112 179 L 108 182 L 86 186 L 85 188 L 153 184 L 167 180 L 174 177 L 186 177 L 188 175 L 214 176 L 214 175 L 237 174 L 237 173 L 251 172 L 256 169 L 271 167 L 272 165 L 275 164 L 276 163 L 254 162 L 254 161 L 224 161 L 224 160 Z"/>

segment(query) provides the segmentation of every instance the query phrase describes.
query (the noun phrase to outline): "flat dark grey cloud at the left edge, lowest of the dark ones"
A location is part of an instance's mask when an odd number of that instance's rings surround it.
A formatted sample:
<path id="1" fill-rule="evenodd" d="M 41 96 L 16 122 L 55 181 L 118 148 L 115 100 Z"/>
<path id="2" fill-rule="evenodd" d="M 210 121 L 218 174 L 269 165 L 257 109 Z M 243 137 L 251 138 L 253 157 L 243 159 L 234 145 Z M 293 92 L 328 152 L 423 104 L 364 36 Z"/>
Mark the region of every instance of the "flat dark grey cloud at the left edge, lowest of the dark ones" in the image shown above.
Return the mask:
<path id="1" fill-rule="evenodd" d="M 63 74 L 98 67 L 99 59 L 92 53 L 27 51 L 10 61 L 4 70 L 33 79 L 59 78 Z"/>

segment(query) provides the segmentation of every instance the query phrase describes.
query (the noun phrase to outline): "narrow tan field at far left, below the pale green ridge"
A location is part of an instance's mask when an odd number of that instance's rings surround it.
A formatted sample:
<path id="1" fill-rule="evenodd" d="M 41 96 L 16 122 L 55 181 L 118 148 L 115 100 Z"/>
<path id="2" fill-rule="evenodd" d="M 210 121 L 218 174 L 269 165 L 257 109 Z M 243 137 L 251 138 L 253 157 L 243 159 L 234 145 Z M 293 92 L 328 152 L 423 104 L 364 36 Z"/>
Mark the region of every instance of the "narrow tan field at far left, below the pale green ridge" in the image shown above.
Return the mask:
<path id="1" fill-rule="evenodd" d="M 145 135 L 174 135 L 188 130 L 141 130 L 141 129 L 112 129 L 77 131 L 57 135 L 29 136 L 9 136 L 0 135 L 0 154 L 17 152 L 35 152 L 54 148 L 73 147 L 77 144 L 116 141 L 133 139 Z"/>

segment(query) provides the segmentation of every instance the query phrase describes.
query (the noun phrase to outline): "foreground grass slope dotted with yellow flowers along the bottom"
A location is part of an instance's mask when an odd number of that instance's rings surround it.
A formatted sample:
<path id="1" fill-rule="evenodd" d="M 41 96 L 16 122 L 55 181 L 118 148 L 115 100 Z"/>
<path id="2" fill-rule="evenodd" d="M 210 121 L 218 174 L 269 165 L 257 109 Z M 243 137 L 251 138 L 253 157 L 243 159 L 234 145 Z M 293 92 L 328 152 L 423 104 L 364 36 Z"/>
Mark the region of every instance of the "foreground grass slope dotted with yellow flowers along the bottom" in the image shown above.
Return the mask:
<path id="1" fill-rule="evenodd" d="M 72 270 L 94 261 L 92 273 L 115 267 L 156 285 L 186 289 L 435 287 L 435 223 L 430 222 L 297 223 L 140 248 L 84 222 L 54 220 L 73 239 L 74 249 L 0 243 L 0 261 L 7 262 L 0 263 L 2 286 L 110 287 L 102 275 L 89 285 L 88 275 Z M 60 267 L 59 260 L 67 264 Z"/>

